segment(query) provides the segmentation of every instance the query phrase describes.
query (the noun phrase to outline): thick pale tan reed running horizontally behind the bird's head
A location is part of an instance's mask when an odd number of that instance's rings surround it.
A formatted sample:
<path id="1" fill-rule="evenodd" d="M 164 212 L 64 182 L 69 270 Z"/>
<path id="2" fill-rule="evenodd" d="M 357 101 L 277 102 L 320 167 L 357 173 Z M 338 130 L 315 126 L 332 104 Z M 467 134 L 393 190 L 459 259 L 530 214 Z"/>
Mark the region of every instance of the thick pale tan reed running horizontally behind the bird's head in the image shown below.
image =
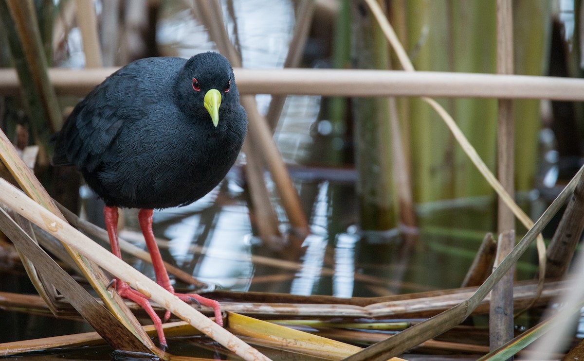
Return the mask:
<path id="1" fill-rule="evenodd" d="M 58 95 L 85 96 L 117 71 L 51 68 Z M 584 101 L 584 79 L 462 72 L 234 68 L 240 94 L 551 99 Z M 19 96 L 14 69 L 0 69 L 0 95 Z"/>

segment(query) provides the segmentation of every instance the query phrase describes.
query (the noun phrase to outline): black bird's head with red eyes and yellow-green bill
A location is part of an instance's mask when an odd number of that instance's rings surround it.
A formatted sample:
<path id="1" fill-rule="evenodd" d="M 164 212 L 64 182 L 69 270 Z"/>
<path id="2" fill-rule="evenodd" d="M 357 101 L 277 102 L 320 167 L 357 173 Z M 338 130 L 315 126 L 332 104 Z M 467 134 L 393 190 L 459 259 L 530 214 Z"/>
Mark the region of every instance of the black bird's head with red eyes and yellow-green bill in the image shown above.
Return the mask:
<path id="1" fill-rule="evenodd" d="M 219 109 L 239 103 L 231 64 L 217 52 L 194 55 L 187 60 L 177 80 L 179 107 L 194 117 L 211 120 L 215 127 L 221 121 Z"/>

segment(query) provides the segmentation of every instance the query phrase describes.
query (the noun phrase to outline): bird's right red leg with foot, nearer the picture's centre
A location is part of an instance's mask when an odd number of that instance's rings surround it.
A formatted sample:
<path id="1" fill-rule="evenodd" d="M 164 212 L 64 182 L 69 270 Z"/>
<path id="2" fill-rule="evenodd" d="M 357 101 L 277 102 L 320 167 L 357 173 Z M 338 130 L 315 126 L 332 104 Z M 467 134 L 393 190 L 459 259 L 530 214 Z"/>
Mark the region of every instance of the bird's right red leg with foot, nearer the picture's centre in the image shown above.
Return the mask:
<path id="1" fill-rule="evenodd" d="M 156 240 L 154 239 L 154 233 L 152 233 L 152 209 L 140 209 L 140 212 L 138 212 L 138 220 L 140 220 L 140 228 L 142 229 L 142 234 L 144 234 L 144 240 L 146 241 L 146 246 L 150 252 L 150 257 L 152 257 L 152 266 L 154 267 L 156 282 L 184 302 L 190 303 L 191 300 L 194 299 L 204 306 L 211 307 L 215 313 L 215 322 L 223 326 L 221 306 L 217 301 L 210 300 L 206 297 L 197 295 L 196 293 L 175 293 L 171 280 L 168 277 L 168 272 L 166 272 L 166 268 L 164 267 L 164 262 L 162 262 L 162 255 L 160 254 L 158 244 L 156 244 Z M 169 317 L 170 313 L 167 311 L 165 320 L 168 320 Z"/>

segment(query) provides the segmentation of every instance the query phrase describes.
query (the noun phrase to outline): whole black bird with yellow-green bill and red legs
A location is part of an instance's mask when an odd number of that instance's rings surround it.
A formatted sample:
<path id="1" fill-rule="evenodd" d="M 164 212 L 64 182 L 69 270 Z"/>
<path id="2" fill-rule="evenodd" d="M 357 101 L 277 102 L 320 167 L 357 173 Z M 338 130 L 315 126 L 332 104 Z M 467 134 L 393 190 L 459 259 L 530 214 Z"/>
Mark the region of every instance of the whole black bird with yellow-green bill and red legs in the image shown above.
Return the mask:
<path id="1" fill-rule="evenodd" d="M 152 234 L 152 210 L 190 204 L 220 183 L 241 150 L 247 123 L 233 70 L 222 55 L 140 59 L 77 104 L 56 136 L 52 163 L 74 165 L 105 201 L 106 229 L 117 257 L 117 209 L 140 208 L 157 282 L 174 293 Z M 148 297 L 115 281 L 122 297 L 148 312 L 165 345 Z M 213 307 L 217 323 L 223 323 L 218 302 L 177 296 Z"/>

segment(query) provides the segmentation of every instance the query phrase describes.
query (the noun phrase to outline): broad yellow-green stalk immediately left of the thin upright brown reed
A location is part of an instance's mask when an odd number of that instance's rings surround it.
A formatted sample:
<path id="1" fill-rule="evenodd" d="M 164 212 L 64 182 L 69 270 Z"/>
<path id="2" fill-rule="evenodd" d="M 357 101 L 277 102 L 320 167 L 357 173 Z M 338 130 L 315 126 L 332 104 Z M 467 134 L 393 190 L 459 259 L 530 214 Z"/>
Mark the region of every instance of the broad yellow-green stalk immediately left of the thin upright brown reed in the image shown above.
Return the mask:
<path id="1" fill-rule="evenodd" d="M 453 1 L 451 33 L 453 71 L 496 72 L 495 1 Z M 439 48 L 436 57 L 443 54 Z M 437 69 L 432 69 L 437 70 Z M 496 164 L 497 103 L 494 99 L 456 99 L 452 113 L 458 127 L 491 170 Z M 480 129 L 480 131 L 477 131 Z M 491 187 L 458 146 L 454 154 L 454 198 L 492 194 Z M 494 213 L 489 215 L 495 218 Z"/>

